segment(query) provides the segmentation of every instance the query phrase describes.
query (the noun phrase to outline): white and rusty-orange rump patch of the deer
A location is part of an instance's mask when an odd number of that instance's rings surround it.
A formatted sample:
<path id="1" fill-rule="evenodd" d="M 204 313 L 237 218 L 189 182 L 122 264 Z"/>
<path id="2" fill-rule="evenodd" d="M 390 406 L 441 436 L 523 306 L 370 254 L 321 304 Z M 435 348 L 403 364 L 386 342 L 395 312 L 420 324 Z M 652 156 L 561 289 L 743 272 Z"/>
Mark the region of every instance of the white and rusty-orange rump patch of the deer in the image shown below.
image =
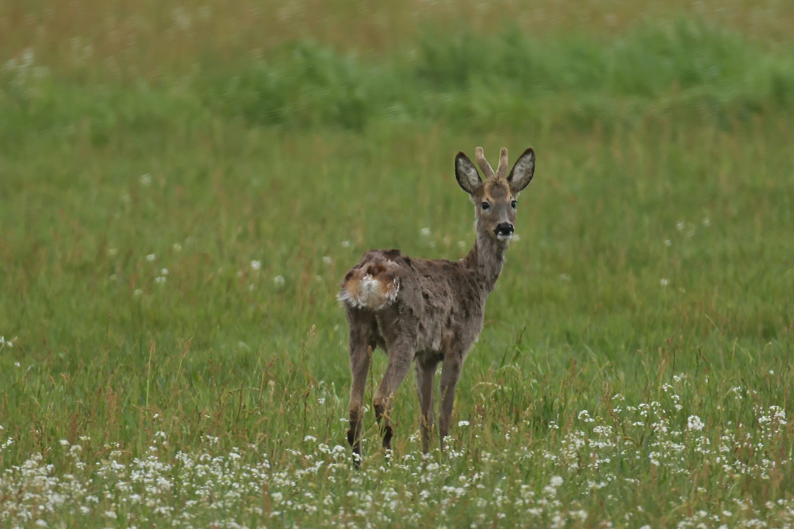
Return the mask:
<path id="1" fill-rule="evenodd" d="M 397 299 L 397 268 L 397 263 L 380 260 L 357 265 L 345 275 L 337 298 L 358 309 L 385 309 Z"/>

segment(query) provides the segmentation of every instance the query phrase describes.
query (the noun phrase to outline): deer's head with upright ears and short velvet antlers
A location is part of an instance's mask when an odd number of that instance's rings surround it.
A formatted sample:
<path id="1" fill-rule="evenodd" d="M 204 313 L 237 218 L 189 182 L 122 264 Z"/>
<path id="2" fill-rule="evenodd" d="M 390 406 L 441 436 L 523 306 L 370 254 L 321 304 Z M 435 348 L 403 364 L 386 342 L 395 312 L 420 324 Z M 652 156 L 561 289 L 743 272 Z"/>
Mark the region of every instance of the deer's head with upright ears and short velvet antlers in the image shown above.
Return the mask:
<path id="1" fill-rule="evenodd" d="M 474 202 L 478 235 L 487 234 L 507 245 L 515 231 L 518 193 L 530 183 L 535 171 L 535 153 L 532 148 L 526 149 L 518 156 L 507 177 L 507 149 L 499 151 L 496 172 L 485 159 L 483 148 L 476 148 L 475 157 L 480 171 L 483 171 L 485 182 L 477 174 L 472 160 L 463 152 L 458 152 L 455 157 L 457 183 Z"/>

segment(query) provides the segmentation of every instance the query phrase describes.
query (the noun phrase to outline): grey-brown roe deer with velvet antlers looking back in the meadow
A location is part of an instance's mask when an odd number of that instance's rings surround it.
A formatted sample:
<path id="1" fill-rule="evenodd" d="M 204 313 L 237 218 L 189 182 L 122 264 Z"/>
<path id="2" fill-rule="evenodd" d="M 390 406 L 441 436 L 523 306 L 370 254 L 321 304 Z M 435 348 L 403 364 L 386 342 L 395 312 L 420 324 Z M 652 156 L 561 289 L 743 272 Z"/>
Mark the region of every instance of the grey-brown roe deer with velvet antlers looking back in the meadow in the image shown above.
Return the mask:
<path id="1" fill-rule="evenodd" d="M 532 180 L 535 155 L 526 149 L 507 173 L 507 149 L 499 152 L 494 173 L 476 148 L 476 161 L 485 181 L 463 152 L 455 157 L 457 183 L 475 204 L 476 240 L 460 261 L 410 259 L 399 250 L 370 250 L 341 283 L 338 297 L 350 325 L 350 428 L 348 441 L 360 462 L 364 384 L 372 350 L 380 346 L 388 357 L 384 379 L 373 404 L 378 424 L 383 420 L 383 446 L 391 449 L 389 413 L 400 382 L 416 361 L 422 451 L 429 450 L 433 424 L 433 379 L 441 368 L 441 408 L 438 434 L 441 447 L 449 434 L 455 384 L 469 348 L 483 328 L 485 300 L 502 271 L 504 251 L 515 225 L 516 197 Z"/>

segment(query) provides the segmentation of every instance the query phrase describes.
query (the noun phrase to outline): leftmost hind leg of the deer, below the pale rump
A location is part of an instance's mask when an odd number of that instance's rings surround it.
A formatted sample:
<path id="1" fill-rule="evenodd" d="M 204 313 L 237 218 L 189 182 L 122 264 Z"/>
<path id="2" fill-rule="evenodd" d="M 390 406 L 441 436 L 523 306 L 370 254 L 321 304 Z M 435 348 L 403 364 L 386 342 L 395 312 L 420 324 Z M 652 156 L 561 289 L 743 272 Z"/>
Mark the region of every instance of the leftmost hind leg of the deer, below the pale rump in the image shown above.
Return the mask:
<path id="1" fill-rule="evenodd" d="M 361 459 L 361 432 L 363 427 L 364 388 L 367 384 L 369 362 L 375 347 L 374 318 L 358 309 L 348 310 L 350 324 L 350 427 L 348 443 L 353 447 L 353 460 L 358 465 Z"/>

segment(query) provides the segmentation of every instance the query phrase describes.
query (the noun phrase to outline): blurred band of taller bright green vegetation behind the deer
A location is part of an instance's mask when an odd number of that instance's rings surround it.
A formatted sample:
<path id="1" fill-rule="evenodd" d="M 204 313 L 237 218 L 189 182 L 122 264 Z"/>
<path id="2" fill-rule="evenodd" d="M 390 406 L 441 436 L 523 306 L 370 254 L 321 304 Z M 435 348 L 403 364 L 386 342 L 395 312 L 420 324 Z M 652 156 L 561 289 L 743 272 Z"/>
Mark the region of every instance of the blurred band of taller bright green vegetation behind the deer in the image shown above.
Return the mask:
<path id="1" fill-rule="evenodd" d="M 31 53 L 6 66 L 2 128 L 74 134 L 88 121 L 104 144 L 119 129 L 147 132 L 168 122 L 198 126 L 209 116 L 283 128 L 445 123 L 472 130 L 528 126 L 592 128 L 644 117 L 685 116 L 728 126 L 731 117 L 794 105 L 794 59 L 766 52 L 719 25 L 646 22 L 600 43 L 592 37 L 535 40 L 518 26 L 477 36 L 427 29 L 408 52 L 360 57 L 297 40 L 267 58 L 196 63 L 174 82 L 87 86 L 52 79 Z M 24 123 L 24 125 L 21 125 Z"/>

